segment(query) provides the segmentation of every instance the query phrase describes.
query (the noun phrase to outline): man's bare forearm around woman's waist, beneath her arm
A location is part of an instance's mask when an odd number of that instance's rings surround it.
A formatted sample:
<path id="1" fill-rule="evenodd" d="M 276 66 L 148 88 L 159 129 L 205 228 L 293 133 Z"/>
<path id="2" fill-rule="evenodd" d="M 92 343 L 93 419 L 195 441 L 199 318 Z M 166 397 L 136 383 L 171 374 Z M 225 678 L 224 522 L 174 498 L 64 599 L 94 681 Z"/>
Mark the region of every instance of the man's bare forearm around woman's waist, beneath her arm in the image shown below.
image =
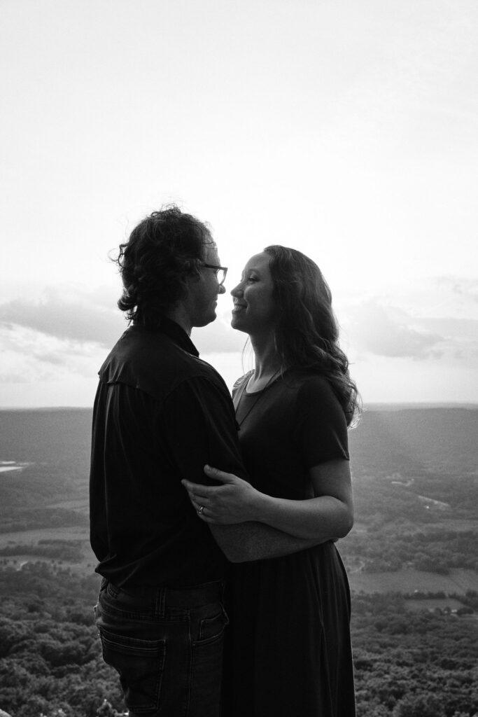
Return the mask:
<path id="1" fill-rule="evenodd" d="M 264 523 L 209 524 L 211 533 L 231 563 L 280 558 L 324 543 L 330 538 L 295 538 Z"/>

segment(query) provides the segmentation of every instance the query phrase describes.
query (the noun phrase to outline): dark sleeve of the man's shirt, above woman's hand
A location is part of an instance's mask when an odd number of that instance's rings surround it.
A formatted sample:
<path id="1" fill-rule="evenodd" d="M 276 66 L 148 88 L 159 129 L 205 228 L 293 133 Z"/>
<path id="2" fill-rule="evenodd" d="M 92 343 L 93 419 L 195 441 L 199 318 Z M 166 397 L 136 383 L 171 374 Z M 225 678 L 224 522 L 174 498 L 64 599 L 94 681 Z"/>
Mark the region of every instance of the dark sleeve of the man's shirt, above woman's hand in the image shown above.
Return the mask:
<path id="1" fill-rule="evenodd" d="M 166 399 L 161 424 L 180 480 L 217 485 L 204 473 L 206 463 L 249 480 L 225 384 L 204 376 L 186 379 Z"/>

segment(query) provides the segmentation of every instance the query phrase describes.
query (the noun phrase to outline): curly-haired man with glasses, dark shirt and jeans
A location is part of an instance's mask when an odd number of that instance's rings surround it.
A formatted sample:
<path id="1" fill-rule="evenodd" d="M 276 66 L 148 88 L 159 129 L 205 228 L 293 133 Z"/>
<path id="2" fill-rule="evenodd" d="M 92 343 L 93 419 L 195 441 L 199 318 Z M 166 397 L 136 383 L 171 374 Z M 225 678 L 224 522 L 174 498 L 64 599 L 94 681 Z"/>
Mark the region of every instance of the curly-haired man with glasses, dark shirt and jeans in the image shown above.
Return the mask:
<path id="1" fill-rule="evenodd" d="M 118 265 L 118 306 L 133 323 L 100 369 L 90 474 L 103 657 L 130 717 L 215 717 L 224 556 L 311 543 L 256 523 L 209 528 L 181 485 L 205 483 L 205 464 L 247 478 L 229 392 L 189 338 L 225 291 L 209 229 L 176 206 L 153 212 L 120 245 Z"/>

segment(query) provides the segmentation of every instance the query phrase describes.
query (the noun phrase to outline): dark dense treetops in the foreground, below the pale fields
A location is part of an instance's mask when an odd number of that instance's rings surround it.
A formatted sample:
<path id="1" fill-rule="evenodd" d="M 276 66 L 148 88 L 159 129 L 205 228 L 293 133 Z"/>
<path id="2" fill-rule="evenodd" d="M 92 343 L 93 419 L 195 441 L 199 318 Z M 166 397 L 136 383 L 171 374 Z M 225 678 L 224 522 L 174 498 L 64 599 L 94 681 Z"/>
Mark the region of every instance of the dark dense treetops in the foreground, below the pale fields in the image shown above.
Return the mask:
<path id="1" fill-rule="evenodd" d="M 41 562 L 0 571 L 0 709 L 95 717 L 107 699 L 123 711 L 92 626 L 97 583 Z M 478 610 L 477 593 L 465 599 Z M 478 711 L 476 613 L 410 613 L 399 594 L 357 596 L 353 613 L 358 717 Z"/>

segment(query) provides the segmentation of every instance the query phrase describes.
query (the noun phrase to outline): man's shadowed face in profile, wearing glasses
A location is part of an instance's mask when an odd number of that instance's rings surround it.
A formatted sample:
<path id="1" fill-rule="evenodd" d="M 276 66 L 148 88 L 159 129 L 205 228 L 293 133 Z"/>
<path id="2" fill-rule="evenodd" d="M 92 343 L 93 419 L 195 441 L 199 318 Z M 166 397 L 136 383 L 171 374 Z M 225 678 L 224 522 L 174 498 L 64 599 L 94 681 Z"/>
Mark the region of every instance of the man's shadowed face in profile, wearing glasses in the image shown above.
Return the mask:
<path id="1" fill-rule="evenodd" d="M 206 244 L 204 248 L 204 263 L 219 266 L 219 255 L 214 242 Z M 206 326 L 216 318 L 217 297 L 224 294 L 226 289 L 219 285 L 214 269 L 201 267 L 199 279 L 193 277 L 189 282 L 189 291 L 186 298 L 191 326 Z"/>

